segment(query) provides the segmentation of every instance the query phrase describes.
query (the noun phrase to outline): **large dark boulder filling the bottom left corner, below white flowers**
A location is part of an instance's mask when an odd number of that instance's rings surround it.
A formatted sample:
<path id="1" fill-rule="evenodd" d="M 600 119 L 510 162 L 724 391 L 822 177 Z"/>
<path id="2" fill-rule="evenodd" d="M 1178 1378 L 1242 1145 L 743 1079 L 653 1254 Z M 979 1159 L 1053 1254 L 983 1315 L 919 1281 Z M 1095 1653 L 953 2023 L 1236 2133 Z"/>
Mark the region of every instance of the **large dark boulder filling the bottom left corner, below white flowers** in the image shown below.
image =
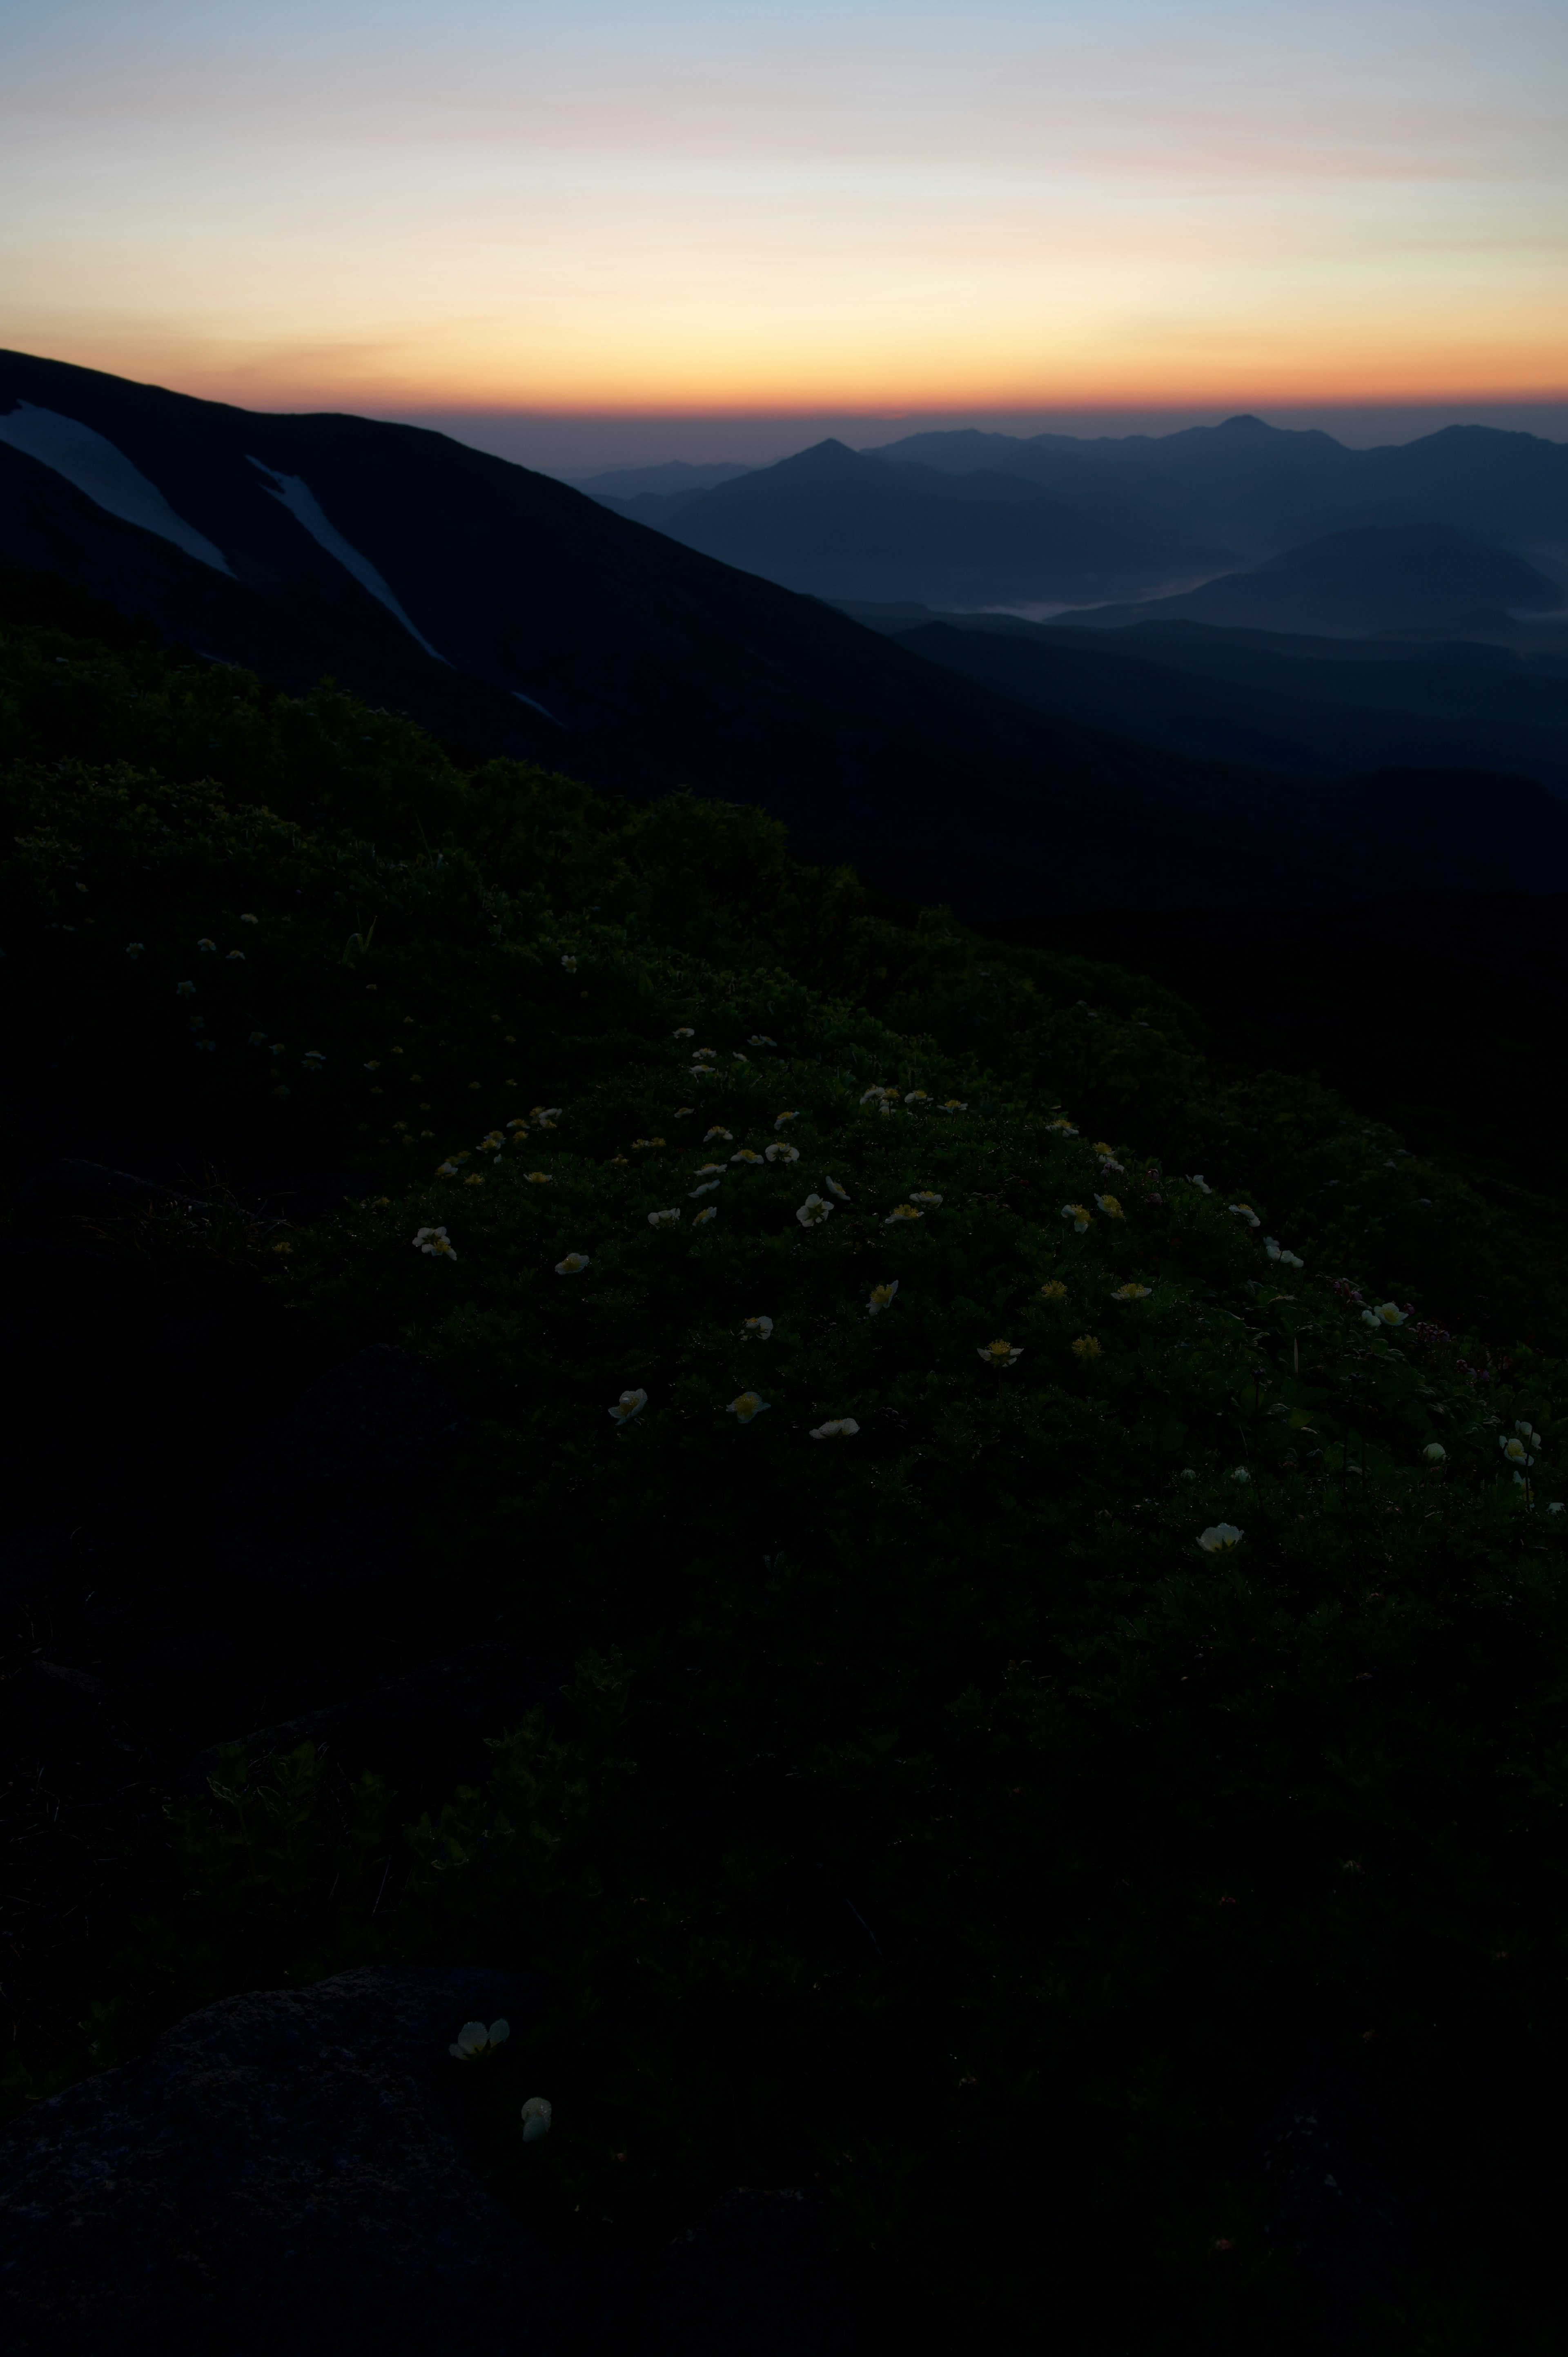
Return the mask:
<path id="1" fill-rule="evenodd" d="M 552 2357 L 542 2244 L 462 2159 L 448 2044 L 540 1982 L 358 1970 L 231 1996 L 0 2131 L 12 2357 Z"/>

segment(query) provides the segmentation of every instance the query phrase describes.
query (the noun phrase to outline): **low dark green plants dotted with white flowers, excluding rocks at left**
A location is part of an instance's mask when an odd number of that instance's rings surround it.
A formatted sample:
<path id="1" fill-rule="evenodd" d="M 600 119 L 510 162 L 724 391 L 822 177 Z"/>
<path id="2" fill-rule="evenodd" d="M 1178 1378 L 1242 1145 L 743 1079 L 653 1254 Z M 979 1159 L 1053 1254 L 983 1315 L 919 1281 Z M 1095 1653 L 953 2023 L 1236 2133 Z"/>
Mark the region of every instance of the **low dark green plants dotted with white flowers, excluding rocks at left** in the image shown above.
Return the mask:
<path id="1" fill-rule="evenodd" d="M 233 1249 L 474 1419 L 431 1652 L 568 1678 L 415 1824 L 229 1754 L 94 2060 L 262 1978 L 533 1966 L 483 2069 L 552 2232 L 816 2183 L 948 2345 L 1285 2350 L 1254 2154 L 1323 2039 L 1462 2253 L 1375 2345 L 1481 2345 L 1467 2303 L 1535 2345 L 1568 1398 L 1528 1237 L 1316 1082 L 1217 1082 L 1148 981 L 50 594 L 0 629 L 12 1018 L 375 1176 Z"/>

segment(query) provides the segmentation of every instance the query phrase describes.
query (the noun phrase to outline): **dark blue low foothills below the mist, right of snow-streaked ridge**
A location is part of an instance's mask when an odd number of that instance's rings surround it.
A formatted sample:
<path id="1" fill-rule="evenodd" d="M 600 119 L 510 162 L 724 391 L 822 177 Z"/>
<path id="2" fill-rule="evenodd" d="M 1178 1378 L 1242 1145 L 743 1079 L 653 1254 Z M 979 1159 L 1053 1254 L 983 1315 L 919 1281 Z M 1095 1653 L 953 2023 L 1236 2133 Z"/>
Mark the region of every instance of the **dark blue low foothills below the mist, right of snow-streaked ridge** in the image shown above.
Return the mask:
<path id="1" fill-rule="evenodd" d="M 1568 669 L 1497 646 L 1368 646 L 1144 622 L 1115 634 L 889 613 L 901 646 L 1030 712 L 1299 778 L 1511 768 L 1568 797 Z"/>

